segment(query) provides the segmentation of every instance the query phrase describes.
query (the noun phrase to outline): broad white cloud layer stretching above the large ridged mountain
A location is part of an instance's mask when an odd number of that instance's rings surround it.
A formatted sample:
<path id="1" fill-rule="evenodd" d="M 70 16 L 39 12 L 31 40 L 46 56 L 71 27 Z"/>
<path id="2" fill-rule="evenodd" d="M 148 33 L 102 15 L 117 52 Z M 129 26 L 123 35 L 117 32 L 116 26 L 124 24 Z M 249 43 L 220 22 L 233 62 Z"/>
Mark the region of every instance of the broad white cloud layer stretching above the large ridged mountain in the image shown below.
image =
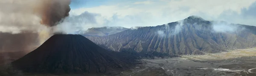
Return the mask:
<path id="1" fill-rule="evenodd" d="M 205 20 L 224 20 L 230 23 L 256 25 L 256 18 L 223 16 L 232 11 L 237 15 L 243 14 L 242 9 L 250 9 L 256 0 L 149 0 L 134 3 L 118 3 L 111 6 L 96 6 L 91 8 L 72 9 L 70 14 L 79 15 L 84 11 L 100 14 L 106 20 L 101 24 L 108 26 L 156 26 L 183 20 L 191 15 L 197 15 Z M 254 12 L 256 13 L 256 12 Z M 233 14 L 232 14 L 233 15 Z M 251 20 L 251 21 L 249 21 Z M 99 25 L 99 26 L 102 26 Z"/>

